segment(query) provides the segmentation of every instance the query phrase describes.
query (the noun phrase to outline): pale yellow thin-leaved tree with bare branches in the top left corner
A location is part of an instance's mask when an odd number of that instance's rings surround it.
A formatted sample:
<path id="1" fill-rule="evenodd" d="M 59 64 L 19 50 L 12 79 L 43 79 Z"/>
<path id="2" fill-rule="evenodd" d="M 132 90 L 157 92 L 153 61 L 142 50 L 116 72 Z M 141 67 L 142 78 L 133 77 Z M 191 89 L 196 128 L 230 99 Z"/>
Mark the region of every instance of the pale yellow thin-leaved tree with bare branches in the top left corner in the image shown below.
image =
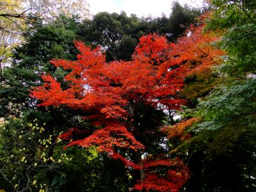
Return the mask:
<path id="1" fill-rule="evenodd" d="M 61 15 L 77 19 L 88 19 L 90 16 L 86 1 L 38 1 L 38 0 L 4 0 L 0 3 L 0 84 L 3 81 L 2 70 L 11 56 L 12 48 L 20 44 L 28 24 L 44 22 L 51 24 Z M 40 20 L 40 21 L 38 21 Z M 43 20 L 43 21 L 42 21 Z M 41 23 L 42 24 L 42 23 Z"/>

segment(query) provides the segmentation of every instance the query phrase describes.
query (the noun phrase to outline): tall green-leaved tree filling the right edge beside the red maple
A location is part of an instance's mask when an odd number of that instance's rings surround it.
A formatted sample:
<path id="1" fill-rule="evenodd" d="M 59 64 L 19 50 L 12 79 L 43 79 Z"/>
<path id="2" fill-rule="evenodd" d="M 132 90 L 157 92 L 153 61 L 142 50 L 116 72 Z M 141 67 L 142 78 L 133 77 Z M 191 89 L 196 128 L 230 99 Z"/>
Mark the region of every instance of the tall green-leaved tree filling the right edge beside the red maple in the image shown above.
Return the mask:
<path id="1" fill-rule="evenodd" d="M 183 145 L 195 174 L 188 191 L 255 191 L 256 4 L 211 2 L 205 30 L 225 31 L 218 46 L 226 56 L 216 70 L 218 85 L 195 109 L 200 121 L 190 129 L 193 137 Z"/>

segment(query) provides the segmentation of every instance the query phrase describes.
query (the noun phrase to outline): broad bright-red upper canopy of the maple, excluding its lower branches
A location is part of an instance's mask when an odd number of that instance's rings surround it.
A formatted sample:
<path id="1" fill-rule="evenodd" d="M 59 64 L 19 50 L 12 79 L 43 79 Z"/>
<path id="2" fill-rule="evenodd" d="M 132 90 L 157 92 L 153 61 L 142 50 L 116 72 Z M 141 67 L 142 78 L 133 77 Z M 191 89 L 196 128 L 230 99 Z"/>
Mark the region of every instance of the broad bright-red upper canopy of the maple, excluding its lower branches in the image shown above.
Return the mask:
<path id="1" fill-rule="evenodd" d="M 77 42 L 77 49 L 81 52 L 77 61 L 52 61 L 56 67 L 72 69 L 65 77 L 70 87 L 62 90 L 56 79 L 45 75 L 42 78 L 46 83 L 33 91 L 33 97 L 43 101 L 41 106 L 65 105 L 88 112 L 98 111 L 108 118 L 127 118 L 131 115 L 130 111 L 124 109 L 131 100 L 135 103 L 143 100 L 155 105 L 164 102 L 169 108 L 179 108 L 184 100 L 175 98 L 175 95 L 183 86 L 183 77 L 180 76 L 179 67 L 168 72 L 168 52 L 172 46 L 157 35 L 144 36 L 143 39 L 136 48 L 133 61 L 111 63 L 104 62 L 99 49 L 91 50 Z M 151 55 L 148 50 L 141 48 L 150 46 L 151 49 L 164 49 L 150 51 Z"/>

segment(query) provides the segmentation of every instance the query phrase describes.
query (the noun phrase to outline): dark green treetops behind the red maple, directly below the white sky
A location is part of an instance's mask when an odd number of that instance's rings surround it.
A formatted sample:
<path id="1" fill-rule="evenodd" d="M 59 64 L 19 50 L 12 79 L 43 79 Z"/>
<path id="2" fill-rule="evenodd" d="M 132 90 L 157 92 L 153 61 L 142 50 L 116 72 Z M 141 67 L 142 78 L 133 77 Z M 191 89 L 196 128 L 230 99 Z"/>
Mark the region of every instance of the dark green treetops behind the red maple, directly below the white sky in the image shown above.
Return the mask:
<path id="1" fill-rule="evenodd" d="M 201 13 L 200 9 L 182 7 L 179 3 L 173 4 L 169 18 L 165 15 L 138 18 L 136 15 L 128 17 L 125 12 L 102 12 L 97 13 L 92 20 L 84 20 L 79 35 L 84 42 L 102 46 L 107 61 L 131 60 L 141 36 L 159 33 L 175 42 L 184 35 L 190 24 L 196 24 L 196 17 Z"/>

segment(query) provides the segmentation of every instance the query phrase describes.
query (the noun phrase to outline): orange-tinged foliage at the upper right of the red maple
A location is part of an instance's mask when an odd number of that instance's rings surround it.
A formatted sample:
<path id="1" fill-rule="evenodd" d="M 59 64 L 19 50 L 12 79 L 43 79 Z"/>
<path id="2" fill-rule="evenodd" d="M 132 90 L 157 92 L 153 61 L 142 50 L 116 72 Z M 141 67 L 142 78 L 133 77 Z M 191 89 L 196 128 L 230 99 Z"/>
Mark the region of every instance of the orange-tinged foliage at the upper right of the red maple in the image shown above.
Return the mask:
<path id="1" fill-rule="evenodd" d="M 224 52 L 212 46 L 212 43 L 216 42 L 221 34 L 211 31 L 203 33 L 203 28 L 204 26 L 195 28 L 191 25 L 188 30 L 189 35 L 180 37 L 177 44 L 173 46 L 172 62 L 186 67 L 186 76 L 204 72 L 222 62 L 221 56 L 224 55 Z"/>

